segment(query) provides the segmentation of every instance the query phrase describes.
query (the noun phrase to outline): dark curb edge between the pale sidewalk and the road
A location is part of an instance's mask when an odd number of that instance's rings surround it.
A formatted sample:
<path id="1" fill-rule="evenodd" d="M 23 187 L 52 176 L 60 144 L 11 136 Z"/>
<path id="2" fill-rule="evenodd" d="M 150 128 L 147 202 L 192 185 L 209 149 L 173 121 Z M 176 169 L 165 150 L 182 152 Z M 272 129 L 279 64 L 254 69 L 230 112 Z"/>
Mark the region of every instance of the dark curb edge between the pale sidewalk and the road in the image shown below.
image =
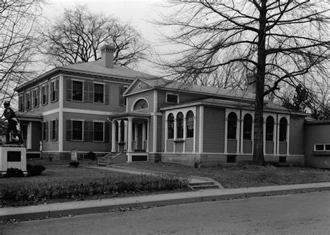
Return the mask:
<path id="1" fill-rule="evenodd" d="M 235 190 L 235 189 L 234 189 Z M 242 190 L 242 189 L 241 189 Z M 75 216 L 90 213 L 102 213 L 111 210 L 118 209 L 129 209 L 129 208 L 144 208 L 150 206 L 168 206 L 174 204 L 188 204 L 196 202 L 210 202 L 220 200 L 235 200 L 235 199 L 246 199 L 251 197 L 265 197 L 274 195 L 285 195 L 285 194 L 297 194 L 297 193 L 311 193 L 319 191 L 330 191 L 330 186 L 315 186 L 311 188 L 294 188 L 294 189 L 278 189 L 270 191 L 256 191 L 256 192 L 242 192 L 242 193 L 222 193 L 219 194 L 219 190 L 212 190 L 212 195 L 198 195 L 198 196 L 185 196 L 167 200 L 141 200 L 140 202 L 122 202 L 118 204 L 102 205 L 102 206 L 79 206 L 71 209 L 51 209 L 47 211 L 38 211 L 38 207 L 35 211 L 17 212 L 2 214 L 0 212 L 0 220 L 31 220 L 40 218 L 56 218 L 62 216 Z M 218 193 L 218 194 L 217 194 Z M 84 201 L 82 201 L 84 202 Z M 49 204 L 52 205 L 52 204 Z"/>

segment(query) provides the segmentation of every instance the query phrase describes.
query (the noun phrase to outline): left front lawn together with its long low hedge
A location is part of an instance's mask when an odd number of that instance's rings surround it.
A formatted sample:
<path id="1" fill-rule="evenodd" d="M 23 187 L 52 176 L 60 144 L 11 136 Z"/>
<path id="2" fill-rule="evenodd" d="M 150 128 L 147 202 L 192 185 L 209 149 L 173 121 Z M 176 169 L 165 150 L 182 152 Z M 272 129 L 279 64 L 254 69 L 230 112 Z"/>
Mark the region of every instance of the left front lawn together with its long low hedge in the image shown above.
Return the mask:
<path id="1" fill-rule="evenodd" d="M 37 177 L 0 178 L 0 207 L 189 190 L 187 179 L 179 177 L 127 175 L 84 164 L 69 168 L 69 161 L 27 163 L 44 165 L 46 170 Z"/>

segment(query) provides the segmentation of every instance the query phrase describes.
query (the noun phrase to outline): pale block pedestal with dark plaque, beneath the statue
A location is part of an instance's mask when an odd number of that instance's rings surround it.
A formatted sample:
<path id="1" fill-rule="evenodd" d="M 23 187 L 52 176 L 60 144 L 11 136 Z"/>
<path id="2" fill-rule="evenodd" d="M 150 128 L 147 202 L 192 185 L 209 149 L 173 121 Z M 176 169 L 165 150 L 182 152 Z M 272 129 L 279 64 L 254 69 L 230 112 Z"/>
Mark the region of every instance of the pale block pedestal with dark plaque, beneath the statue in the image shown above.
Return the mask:
<path id="1" fill-rule="evenodd" d="M 0 172 L 1 177 L 6 175 L 8 168 L 17 168 L 22 170 L 24 176 L 26 171 L 26 148 L 16 147 L 15 145 L 0 146 Z"/>

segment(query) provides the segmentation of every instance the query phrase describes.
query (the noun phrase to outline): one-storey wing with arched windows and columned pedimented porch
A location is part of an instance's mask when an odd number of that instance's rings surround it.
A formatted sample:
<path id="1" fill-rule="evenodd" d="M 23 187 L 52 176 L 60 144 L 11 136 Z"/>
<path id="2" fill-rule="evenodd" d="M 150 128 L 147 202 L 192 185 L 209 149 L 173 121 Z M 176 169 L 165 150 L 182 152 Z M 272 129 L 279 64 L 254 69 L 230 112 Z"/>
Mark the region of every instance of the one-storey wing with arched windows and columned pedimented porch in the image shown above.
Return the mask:
<path id="1" fill-rule="evenodd" d="M 253 93 L 138 77 L 124 96 L 126 111 L 109 119 L 111 151 L 124 151 L 128 162 L 228 166 L 252 160 Z M 266 161 L 304 165 L 305 116 L 265 102 Z"/>

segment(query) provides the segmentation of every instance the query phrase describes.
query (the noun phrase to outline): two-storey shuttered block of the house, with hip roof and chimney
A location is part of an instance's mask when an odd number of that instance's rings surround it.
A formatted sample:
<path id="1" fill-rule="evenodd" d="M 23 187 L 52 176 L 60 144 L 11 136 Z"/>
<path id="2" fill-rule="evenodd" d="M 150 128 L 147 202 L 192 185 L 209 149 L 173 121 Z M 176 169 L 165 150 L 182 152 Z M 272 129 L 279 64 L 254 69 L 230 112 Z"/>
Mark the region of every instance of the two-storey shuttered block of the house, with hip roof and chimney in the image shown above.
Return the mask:
<path id="1" fill-rule="evenodd" d="M 28 158 L 111 152 L 107 118 L 125 111 L 125 88 L 148 74 L 113 65 L 112 47 L 101 53 L 101 60 L 56 67 L 16 89 Z"/>

